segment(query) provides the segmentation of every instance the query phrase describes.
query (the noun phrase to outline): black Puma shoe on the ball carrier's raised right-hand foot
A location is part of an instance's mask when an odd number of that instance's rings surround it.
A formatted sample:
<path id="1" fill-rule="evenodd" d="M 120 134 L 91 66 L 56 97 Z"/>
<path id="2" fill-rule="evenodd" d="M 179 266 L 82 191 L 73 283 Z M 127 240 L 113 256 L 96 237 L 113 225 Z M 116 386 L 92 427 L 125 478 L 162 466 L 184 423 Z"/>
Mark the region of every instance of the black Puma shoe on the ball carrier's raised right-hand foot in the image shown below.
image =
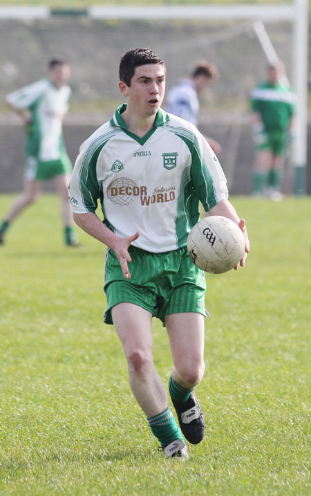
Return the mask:
<path id="1" fill-rule="evenodd" d="M 204 437 L 205 421 L 194 392 L 191 392 L 191 396 L 186 403 L 180 403 L 173 398 L 171 398 L 171 401 L 175 407 L 182 434 L 184 434 L 189 443 L 200 443 Z"/>

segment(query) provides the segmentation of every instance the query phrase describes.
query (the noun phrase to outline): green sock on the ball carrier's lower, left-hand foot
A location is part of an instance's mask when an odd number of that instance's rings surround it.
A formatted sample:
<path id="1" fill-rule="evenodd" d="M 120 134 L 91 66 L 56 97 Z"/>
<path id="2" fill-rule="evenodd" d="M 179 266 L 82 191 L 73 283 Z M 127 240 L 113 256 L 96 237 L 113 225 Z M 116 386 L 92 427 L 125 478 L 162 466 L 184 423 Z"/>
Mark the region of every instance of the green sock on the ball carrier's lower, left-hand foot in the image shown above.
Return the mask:
<path id="1" fill-rule="evenodd" d="M 163 410 L 163 412 L 147 418 L 147 421 L 153 436 L 156 436 L 160 441 L 162 448 L 175 441 L 175 439 L 180 439 L 180 441 L 185 443 L 180 428 L 169 407 Z"/>

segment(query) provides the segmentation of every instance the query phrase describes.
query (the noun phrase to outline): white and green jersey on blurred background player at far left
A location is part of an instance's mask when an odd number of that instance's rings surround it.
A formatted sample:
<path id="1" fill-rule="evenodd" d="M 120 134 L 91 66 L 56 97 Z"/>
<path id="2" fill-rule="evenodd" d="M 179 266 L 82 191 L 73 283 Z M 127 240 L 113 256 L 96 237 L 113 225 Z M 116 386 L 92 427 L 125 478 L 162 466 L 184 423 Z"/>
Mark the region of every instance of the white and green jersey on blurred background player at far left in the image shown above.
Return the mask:
<path id="1" fill-rule="evenodd" d="M 57 89 L 49 79 L 13 91 L 6 100 L 15 109 L 29 110 L 26 154 L 43 162 L 58 160 L 64 150 L 62 120 L 68 111 L 70 87 Z"/>

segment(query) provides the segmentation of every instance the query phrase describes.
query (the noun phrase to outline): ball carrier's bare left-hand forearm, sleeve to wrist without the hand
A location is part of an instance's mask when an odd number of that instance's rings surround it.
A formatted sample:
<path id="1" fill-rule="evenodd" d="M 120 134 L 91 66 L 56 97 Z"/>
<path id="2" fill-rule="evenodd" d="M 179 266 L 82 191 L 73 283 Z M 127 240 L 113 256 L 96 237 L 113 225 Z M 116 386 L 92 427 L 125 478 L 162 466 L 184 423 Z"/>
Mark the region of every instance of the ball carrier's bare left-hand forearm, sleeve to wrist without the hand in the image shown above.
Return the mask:
<path id="1" fill-rule="evenodd" d="M 114 250 L 119 237 L 107 228 L 99 217 L 93 212 L 87 214 L 73 214 L 73 219 L 77 226 L 87 232 L 88 235 L 98 239 L 101 243 Z"/>

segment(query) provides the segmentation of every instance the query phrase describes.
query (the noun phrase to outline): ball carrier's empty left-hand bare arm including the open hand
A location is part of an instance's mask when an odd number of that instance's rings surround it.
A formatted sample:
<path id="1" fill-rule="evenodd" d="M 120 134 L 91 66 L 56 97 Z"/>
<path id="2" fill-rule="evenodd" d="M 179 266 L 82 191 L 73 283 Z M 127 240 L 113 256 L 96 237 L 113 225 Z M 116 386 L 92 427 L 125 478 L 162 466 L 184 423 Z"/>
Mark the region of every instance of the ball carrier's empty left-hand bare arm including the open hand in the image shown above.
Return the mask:
<path id="1" fill-rule="evenodd" d="M 79 228 L 87 232 L 88 235 L 98 239 L 98 241 L 101 241 L 101 243 L 109 246 L 109 248 L 115 252 L 125 279 L 131 279 L 131 273 L 128 267 L 128 263 L 131 262 L 131 257 L 128 249 L 131 243 L 138 238 L 139 233 L 135 232 L 135 235 L 120 238 L 107 228 L 93 212 L 88 212 L 87 214 L 73 214 L 73 219 Z"/>

